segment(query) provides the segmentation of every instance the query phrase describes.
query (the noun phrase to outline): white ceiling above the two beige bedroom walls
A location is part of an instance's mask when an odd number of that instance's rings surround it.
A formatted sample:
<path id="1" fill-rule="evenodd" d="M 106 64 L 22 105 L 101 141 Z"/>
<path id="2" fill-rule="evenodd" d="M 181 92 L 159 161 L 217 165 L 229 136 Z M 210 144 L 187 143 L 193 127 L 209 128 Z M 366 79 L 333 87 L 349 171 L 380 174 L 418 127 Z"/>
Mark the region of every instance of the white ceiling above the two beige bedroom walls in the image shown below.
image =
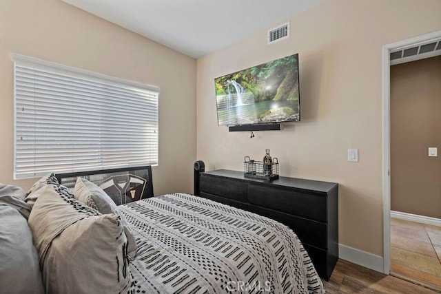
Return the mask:
<path id="1" fill-rule="evenodd" d="M 62 1 L 197 59 L 323 0 Z"/>

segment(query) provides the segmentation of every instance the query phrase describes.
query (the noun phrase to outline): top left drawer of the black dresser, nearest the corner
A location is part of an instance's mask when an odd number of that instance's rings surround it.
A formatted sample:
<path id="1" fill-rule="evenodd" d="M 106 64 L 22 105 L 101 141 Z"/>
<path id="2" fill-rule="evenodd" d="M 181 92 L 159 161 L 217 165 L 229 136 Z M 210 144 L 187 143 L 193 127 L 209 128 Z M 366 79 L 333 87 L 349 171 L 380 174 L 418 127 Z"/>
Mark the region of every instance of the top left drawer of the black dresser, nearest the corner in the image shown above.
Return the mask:
<path id="1" fill-rule="evenodd" d="M 218 178 L 201 174 L 200 191 L 232 200 L 247 200 L 247 183 L 229 178 Z"/>

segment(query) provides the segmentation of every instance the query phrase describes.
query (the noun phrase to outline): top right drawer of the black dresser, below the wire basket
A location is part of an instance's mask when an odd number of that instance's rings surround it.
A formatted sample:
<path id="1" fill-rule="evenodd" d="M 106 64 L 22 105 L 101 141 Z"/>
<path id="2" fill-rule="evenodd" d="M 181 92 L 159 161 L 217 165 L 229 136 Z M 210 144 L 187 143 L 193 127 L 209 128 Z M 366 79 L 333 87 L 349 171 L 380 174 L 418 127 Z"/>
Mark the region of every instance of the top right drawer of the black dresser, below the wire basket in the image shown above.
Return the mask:
<path id="1" fill-rule="evenodd" d="M 248 202 L 294 216 L 327 222 L 326 196 L 248 185 Z"/>

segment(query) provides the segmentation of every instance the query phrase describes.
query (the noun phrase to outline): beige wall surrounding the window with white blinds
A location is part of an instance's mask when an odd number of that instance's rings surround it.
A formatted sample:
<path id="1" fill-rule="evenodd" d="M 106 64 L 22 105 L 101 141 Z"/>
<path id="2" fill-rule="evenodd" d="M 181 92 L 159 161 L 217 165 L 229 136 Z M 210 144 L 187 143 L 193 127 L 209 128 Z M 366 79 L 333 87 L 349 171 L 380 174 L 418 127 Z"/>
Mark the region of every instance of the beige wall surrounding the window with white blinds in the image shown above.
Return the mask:
<path id="1" fill-rule="evenodd" d="M 0 1 L 0 182 L 12 180 L 12 53 L 161 88 L 154 193 L 192 192 L 196 61 L 59 0 Z"/>

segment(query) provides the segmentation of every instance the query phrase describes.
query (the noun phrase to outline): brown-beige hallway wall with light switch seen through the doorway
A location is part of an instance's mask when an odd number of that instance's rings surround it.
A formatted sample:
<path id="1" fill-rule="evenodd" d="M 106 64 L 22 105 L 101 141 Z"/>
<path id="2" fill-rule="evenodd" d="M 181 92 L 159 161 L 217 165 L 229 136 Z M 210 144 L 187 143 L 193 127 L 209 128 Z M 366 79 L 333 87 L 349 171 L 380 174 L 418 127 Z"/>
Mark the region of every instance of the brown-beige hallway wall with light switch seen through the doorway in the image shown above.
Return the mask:
<path id="1" fill-rule="evenodd" d="M 441 56 L 391 66 L 391 209 L 441 218 Z M 438 157 L 428 156 L 438 147 Z"/>

